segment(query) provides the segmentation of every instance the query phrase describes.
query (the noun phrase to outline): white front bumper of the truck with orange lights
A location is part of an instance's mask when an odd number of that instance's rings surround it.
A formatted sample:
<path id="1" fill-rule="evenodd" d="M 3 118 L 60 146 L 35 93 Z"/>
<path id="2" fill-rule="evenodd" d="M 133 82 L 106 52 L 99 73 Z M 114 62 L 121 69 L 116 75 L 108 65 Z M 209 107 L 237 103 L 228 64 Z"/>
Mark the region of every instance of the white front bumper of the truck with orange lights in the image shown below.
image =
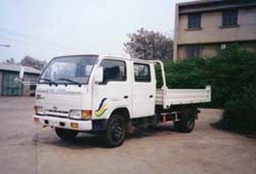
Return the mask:
<path id="1" fill-rule="evenodd" d="M 37 118 L 37 119 L 35 119 Z M 40 116 L 33 115 L 33 120 L 38 120 L 41 125 L 49 125 L 52 127 L 60 127 L 63 129 L 72 129 L 76 131 L 91 131 L 92 130 L 92 120 L 70 120 L 68 118 L 59 118 L 54 116 Z M 71 127 L 71 123 L 76 123 L 77 128 Z"/>

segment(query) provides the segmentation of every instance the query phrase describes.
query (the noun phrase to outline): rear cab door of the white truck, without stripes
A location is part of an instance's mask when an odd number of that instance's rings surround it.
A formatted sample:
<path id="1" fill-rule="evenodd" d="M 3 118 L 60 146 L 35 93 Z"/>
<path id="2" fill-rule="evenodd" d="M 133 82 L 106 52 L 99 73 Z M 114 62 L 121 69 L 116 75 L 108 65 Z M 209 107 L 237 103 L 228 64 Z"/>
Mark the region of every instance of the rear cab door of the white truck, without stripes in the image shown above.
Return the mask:
<path id="1" fill-rule="evenodd" d="M 155 113 L 156 78 L 154 66 L 134 62 L 133 70 L 133 117 L 152 116 Z M 153 78 L 154 77 L 154 78 Z"/>

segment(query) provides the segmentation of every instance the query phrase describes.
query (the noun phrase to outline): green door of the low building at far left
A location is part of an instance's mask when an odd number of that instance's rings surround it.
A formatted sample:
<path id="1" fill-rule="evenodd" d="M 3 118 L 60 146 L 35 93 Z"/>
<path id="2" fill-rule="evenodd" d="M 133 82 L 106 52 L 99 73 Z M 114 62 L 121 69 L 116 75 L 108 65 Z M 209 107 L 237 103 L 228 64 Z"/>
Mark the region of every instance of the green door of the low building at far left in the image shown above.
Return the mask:
<path id="1" fill-rule="evenodd" d="M 23 86 L 21 83 L 17 83 L 13 86 L 15 77 L 19 77 L 16 72 L 3 72 L 3 96 L 18 96 L 23 94 Z"/>

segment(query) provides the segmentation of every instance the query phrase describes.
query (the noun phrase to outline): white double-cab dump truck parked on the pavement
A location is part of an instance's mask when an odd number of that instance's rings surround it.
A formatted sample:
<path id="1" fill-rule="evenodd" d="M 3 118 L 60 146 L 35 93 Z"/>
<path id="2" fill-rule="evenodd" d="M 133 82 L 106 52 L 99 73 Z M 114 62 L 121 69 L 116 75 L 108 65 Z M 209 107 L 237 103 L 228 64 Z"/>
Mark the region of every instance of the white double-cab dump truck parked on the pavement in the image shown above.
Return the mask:
<path id="1" fill-rule="evenodd" d="M 163 86 L 156 88 L 155 64 Z M 54 128 L 64 140 L 79 132 L 102 136 L 106 146 L 120 146 L 133 127 L 173 121 L 180 132 L 191 132 L 196 104 L 211 101 L 205 89 L 168 89 L 161 61 L 101 55 L 53 58 L 36 86 L 33 120 Z"/>

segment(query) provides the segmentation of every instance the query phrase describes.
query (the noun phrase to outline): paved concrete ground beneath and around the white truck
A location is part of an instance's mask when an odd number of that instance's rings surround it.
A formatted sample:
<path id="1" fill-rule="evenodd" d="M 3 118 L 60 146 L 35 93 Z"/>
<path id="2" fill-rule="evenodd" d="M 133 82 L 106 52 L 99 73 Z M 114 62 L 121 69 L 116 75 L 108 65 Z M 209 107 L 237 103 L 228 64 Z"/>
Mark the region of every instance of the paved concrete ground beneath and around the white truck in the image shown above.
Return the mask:
<path id="1" fill-rule="evenodd" d="M 108 149 L 89 134 L 61 141 L 32 108 L 31 97 L 0 98 L 0 173 L 256 173 L 256 140 L 212 127 L 218 110 L 204 109 L 190 134 L 161 125 Z"/>

